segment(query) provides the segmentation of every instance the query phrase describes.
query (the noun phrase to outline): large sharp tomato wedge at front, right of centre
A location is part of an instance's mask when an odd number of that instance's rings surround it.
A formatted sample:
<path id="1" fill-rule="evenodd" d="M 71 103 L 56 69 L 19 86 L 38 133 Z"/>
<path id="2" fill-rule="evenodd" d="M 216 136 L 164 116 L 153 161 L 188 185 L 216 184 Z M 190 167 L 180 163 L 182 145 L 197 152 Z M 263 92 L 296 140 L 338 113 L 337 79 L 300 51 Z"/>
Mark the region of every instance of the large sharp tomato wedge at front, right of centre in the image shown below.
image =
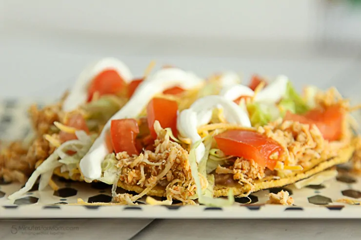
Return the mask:
<path id="1" fill-rule="evenodd" d="M 215 140 L 218 148 L 226 155 L 253 159 L 258 165 L 273 170 L 277 163 L 271 159 L 271 155 L 283 152 L 282 147 L 273 139 L 259 132 L 243 129 L 232 129 L 216 135 Z"/>

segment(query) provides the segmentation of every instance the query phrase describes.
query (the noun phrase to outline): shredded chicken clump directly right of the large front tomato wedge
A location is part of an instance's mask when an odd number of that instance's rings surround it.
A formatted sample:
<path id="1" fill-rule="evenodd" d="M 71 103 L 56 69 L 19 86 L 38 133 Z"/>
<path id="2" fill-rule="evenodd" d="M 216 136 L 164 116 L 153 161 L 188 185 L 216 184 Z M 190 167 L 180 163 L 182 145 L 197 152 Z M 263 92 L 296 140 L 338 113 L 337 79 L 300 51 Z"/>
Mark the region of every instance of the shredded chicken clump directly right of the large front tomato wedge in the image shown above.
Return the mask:
<path id="1" fill-rule="evenodd" d="M 287 166 L 307 167 L 311 159 L 327 158 L 337 153 L 328 146 L 315 125 L 278 120 L 259 127 L 258 131 L 281 145 L 285 151 L 279 159 Z"/>

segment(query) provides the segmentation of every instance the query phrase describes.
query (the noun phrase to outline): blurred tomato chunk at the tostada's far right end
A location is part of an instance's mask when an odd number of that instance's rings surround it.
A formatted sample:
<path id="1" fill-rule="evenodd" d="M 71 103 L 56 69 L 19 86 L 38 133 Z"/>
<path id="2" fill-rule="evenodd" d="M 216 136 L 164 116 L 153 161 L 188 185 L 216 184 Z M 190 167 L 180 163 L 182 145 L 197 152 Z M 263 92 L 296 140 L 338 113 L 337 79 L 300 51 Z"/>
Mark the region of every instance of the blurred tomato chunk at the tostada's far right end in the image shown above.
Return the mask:
<path id="1" fill-rule="evenodd" d="M 292 120 L 309 125 L 315 124 L 325 140 L 336 141 L 340 140 L 342 135 L 344 114 L 344 110 L 339 105 L 334 105 L 326 109 L 313 109 L 304 115 L 287 111 L 283 120 Z"/>

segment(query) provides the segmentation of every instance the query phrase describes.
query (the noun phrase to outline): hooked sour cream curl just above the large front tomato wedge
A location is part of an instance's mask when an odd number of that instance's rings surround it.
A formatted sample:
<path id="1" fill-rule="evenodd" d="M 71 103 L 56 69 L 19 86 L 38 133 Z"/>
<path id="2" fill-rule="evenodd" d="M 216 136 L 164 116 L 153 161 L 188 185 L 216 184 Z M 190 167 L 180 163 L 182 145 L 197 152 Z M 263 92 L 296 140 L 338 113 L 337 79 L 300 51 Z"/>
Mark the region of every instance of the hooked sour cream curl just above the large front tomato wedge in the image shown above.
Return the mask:
<path id="1" fill-rule="evenodd" d="M 178 130 L 183 137 L 189 138 L 192 141 L 191 147 L 201 140 L 197 128 L 209 123 L 214 108 L 223 108 L 224 117 L 228 123 L 251 127 L 247 112 L 232 100 L 228 100 L 220 95 L 205 96 L 195 101 L 189 109 L 181 111 L 177 119 Z M 197 162 L 201 161 L 204 151 L 205 146 L 201 143 L 196 148 Z"/>

